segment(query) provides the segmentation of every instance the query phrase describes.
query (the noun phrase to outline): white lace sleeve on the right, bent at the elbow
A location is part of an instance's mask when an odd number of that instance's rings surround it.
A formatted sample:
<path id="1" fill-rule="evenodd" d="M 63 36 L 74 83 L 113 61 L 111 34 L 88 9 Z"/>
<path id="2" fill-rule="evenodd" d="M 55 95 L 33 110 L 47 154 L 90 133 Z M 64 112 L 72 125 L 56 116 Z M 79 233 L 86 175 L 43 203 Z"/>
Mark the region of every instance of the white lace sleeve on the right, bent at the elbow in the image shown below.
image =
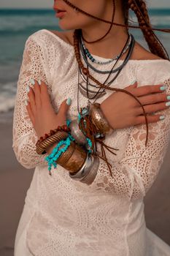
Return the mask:
<path id="1" fill-rule="evenodd" d="M 170 94 L 170 79 L 165 80 L 164 84 L 167 94 Z M 170 138 L 170 109 L 159 113 L 164 115 L 165 119 L 149 124 L 147 147 L 145 125 L 134 126 L 123 159 L 119 162 L 109 161 L 112 164 L 112 176 L 106 162 L 100 159 L 96 178 L 89 186 L 91 189 L 122 195 L 129 199 L 146 195 L 158 176 Z"/>

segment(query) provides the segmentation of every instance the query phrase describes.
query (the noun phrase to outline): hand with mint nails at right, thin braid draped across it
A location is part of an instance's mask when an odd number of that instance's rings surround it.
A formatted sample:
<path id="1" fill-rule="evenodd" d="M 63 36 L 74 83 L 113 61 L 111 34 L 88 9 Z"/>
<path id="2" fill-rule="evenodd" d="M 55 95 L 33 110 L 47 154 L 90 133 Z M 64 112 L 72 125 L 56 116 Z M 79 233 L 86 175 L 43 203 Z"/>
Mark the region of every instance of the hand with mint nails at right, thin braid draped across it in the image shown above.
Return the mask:
<path id="1" fill-rule="evenodd" d="M 152 116 L 152 113 L 169 108 L 166 107 L 167 94 L 165 91 L 162 92 L 160 87 L 141 86 L 137 88 L 137 82 L 125 87 L 125 90 L 134 94 L 144 106 L 148 123 L 160 121 L 161 115 Z M 101 103 L 101 110 L 113 129 L 145 124 L 144 113 L 139 102 L 121 91 L 116 91 L 105 99 Z"/>

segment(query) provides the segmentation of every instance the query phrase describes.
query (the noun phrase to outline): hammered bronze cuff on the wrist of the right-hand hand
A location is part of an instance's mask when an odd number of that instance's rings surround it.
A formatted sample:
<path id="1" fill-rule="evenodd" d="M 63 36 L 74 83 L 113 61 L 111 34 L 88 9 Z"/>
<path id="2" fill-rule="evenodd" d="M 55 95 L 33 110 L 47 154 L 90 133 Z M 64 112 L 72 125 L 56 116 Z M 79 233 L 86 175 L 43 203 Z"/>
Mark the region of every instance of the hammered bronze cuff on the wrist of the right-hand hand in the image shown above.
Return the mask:
<path id="1" fill-rule="evenodd" d="M 112 134 L 113 129 L 105 118 L 99 103 L 96 102 L 90 105 L 90 115 L 92 117 L 93 124 L 96 125 L 101 133 L 106 133 L 107 135 Z"/>

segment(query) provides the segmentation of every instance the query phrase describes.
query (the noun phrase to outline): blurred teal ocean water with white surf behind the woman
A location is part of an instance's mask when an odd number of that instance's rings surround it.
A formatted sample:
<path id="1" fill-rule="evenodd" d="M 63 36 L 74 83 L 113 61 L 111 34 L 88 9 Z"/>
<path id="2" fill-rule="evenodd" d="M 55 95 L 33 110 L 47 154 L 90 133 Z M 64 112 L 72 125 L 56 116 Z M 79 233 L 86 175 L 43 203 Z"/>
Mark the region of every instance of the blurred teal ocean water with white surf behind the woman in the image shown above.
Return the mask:
<path id="1" fill-rule="evenodd" d="M 170 10 L 167 9 L 150 10 L 152 25 L 158 28 L 170 28 L 169 13 Z M 131 19 L 136 21 L 133 15 Z M 14 108 L 26 39 L 39 29 L 60 28 L 53 10 L 0 10 L 0 24 L 0 113 L 5 118 L 9 110 Z M 131 33 L 138 42 L 147 47 L 139 29 L 133 29 Z M 170 34 L 161 32 L 157 34 L 170 54 Z"/>

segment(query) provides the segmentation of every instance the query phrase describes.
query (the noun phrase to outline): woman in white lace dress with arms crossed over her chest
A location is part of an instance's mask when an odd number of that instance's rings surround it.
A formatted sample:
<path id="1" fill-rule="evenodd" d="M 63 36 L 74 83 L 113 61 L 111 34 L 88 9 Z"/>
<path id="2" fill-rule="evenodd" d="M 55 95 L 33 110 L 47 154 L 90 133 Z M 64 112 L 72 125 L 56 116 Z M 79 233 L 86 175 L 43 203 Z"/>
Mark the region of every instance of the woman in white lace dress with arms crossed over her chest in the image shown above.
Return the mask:
<path id="1" fill-rule="evenodd" d="M 100 20 L 127 24 L 129 8 L 139 25 L 145 25 L 142 31 L 151 52 L 133 41 L 127 26 Z M 143 197 L 160 170 L 170 125 L 170 63 L 148 29 L 146 5 L 142 0 L 58 0 L 54 9 L 59 26 L 68 31 L 42 29 L 28 37 L 18 80 L 13 148 L 18 161 L 35 171 L 18 225 L 15 256 L 170 255 L 170 247 L 147 229 L 144 219 Z M 124 65 L 115 78 L 110 70 L 116 62 L 114 68 Z M 57 143 L 47 147 L 46 154 L 36 153 L 40 136 L 65 124 L 66 118 L 77 118 L 77 103 L 81 109 L 93 103 L 85 84 L 93 95 L 96 83 L 87 69 L 99 86 L 126 91 L 98 94 L 96 102 L 114 128 L 104 143 L 119 150 L 98 157 L 89 184 L 74 180 L 61 165 L 48 175 L 45 157 Z"/>

